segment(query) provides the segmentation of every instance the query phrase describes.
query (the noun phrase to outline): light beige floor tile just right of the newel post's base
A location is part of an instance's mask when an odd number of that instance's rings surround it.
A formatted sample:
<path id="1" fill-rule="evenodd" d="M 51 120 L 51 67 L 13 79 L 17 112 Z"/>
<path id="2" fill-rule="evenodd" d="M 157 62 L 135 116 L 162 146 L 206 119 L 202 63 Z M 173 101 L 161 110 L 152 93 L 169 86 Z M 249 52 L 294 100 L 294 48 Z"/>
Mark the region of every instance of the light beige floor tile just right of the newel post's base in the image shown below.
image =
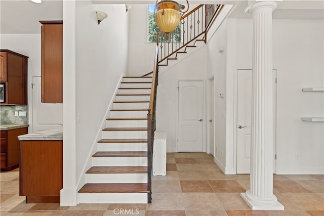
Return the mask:
<path id="1" fill-rule="evenodd" d="M 185 210 L 182 193 L 153 193 L 146 210 Z"/>

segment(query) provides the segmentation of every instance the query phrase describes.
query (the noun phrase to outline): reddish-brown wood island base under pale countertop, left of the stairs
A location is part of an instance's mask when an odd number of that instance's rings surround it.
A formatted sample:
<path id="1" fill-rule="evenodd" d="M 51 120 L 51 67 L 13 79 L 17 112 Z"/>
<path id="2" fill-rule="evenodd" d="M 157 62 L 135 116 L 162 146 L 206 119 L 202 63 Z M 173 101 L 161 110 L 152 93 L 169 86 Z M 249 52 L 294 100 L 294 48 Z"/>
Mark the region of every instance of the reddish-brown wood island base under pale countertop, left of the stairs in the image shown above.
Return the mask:
<path id="1" fill-rule="evenodd" d="M 60 202 L 63 142 L 20 141 L 19 195 L 26 203 Z"/>

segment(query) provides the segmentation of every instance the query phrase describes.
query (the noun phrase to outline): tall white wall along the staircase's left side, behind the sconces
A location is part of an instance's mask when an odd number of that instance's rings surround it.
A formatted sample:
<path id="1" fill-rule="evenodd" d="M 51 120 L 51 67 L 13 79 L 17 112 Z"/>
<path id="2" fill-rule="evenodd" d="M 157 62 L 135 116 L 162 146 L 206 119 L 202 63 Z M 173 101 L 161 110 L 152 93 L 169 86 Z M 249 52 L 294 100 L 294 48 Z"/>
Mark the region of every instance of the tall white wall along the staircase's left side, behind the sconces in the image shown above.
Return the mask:
<path id="1" fill-rule="evenodd" d="M 108 14 L 100 25 L 95 10 Z M 61 205 L 75 205 L 77 189 L 85 183 L 85 171 L 91 166 L 115 88 L 121 75 L 127 75 L 129 17 L 125 5 L 67 1 L 63 2 L 63 22 L 67 25 L 63 31 Z"/>

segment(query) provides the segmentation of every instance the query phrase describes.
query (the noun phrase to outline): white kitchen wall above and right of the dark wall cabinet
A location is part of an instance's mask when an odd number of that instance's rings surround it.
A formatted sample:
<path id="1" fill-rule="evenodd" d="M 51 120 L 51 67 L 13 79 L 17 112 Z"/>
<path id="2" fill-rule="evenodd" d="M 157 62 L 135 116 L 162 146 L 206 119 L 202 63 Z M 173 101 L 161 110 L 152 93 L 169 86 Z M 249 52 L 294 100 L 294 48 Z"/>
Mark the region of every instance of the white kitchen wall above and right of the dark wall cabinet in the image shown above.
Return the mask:
<path id="1" fill-rule="evenodd" d="M 41 28 L 41 23 L 39 23 Z M 1 34 L 1 49 L 11 50 L 28 56 L 28 121 L 29 132 L 33 131 L 32 125 L 32 76 L 41 76 L 41 34 Z"/>

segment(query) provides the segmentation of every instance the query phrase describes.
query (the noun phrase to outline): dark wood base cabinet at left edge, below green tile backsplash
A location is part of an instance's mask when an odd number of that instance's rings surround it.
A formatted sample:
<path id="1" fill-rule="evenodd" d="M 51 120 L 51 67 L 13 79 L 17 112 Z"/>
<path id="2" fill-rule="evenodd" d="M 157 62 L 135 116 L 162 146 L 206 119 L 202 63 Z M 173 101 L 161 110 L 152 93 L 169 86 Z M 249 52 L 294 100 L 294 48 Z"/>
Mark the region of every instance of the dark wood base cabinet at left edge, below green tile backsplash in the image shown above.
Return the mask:
<path id="1" fill-rule="evenodd" d="M 20 162 L 20 142 L 19 135 L 28 133 L 28 128 L 16 128 L 1 130 L 1 170 L 12 170 L 19 167 Z"/>

